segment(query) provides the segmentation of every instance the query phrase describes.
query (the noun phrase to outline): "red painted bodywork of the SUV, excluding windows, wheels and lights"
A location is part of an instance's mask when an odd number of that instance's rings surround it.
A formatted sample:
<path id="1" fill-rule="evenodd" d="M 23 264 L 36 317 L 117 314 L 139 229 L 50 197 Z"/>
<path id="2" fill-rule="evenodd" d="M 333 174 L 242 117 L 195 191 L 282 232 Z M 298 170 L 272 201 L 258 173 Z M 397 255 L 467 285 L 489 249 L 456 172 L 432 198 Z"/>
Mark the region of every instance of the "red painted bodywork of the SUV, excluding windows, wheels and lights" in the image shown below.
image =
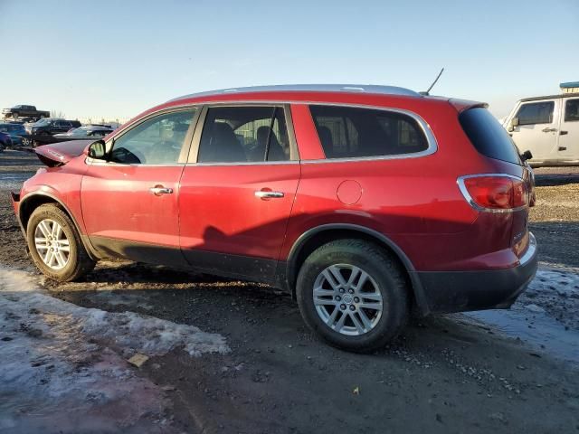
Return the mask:
<path id="1" fill-rule="evenodd" d="M 157 109 L 243 100 L 291 104 L 300 163 L 88 166 L 86 156 L 67 154 L 68 164 L 33 176 L 21 197 L 51 193 L 89 236 L 273 260 L 288 259 L 305 231 L 327 223 L 354 223 L 383 233 L 416 270 L 504 269 L 517 265 L 525 252 L 520 240 L 527 237 L 514 237 L 527 231 L 527 207 L 478 212 L 457 185 L 463 175 L 528 179 L 523 167 L 482 156 L 470 145 L 458 112 L 476 103 L 347 92 L 223 94 L 157 106 L 110 137 Z M 308 102 L 413 111 L 431 127 L 438 150 L 417 158 L 324 161 Z M 174 193 L 149 193 L 156 185 Z M 262 189 L 284 197 L 260 199 L 254 193 Z"/>

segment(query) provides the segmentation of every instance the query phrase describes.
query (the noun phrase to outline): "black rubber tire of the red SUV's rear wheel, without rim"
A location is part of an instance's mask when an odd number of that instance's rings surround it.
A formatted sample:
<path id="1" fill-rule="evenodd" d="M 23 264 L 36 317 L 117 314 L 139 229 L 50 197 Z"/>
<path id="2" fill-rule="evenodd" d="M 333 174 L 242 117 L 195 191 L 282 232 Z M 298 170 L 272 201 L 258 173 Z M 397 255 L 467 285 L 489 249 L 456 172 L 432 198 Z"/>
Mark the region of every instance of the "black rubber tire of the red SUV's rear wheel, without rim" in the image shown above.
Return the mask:
<path id="1" fill-rule="evenodd" d="M 322 320 L 314 305 L 316 279 L 327 267 L 337 264 L 349 264 L 363 269 L 374 279 L 377 286 L 375 289 L 382 296 L 382 314 L 374 327 L 364 334 L 338 333 Z M 402 269 L 389 252 L 366 241 L 337 240 L 314 250 L 304 261 L 299 269 L 296 296 L 304 321 L 327 343 L 344 350 L 365 353 L 384 347 L 402 331 L 409 316 L 410 290 Z"/>

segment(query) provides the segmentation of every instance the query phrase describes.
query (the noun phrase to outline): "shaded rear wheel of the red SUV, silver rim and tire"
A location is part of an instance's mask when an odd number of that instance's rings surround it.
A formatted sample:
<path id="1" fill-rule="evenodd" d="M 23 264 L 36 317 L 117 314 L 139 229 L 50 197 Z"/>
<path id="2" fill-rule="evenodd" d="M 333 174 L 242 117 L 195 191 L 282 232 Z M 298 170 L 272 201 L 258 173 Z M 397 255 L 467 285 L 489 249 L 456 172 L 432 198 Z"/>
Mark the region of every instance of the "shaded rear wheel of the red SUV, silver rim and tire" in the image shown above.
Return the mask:
<path id="1" fill-rule="evenodd" d="M 329 344 L 368 352 L 402 331 L 409 315 L 407 287 L 388 252 L 366 241 L 338 240 L 308 256 L 296 295 L 306 324 Z"/>

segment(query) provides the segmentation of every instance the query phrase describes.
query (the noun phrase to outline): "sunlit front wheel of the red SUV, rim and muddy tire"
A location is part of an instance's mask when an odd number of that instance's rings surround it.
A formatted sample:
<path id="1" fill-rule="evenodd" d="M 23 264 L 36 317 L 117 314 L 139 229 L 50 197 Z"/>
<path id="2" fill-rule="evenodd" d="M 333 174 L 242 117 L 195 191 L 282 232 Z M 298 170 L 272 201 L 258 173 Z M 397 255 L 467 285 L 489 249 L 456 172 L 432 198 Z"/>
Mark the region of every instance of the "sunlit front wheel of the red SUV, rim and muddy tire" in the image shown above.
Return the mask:
<path id="1" fill-rule="evenodd" d="M 47 203 L 34 210 L 26 241 L 36 267 L 49 278 L 75 280 L 95 266 L 71 218 L 55 204 Z"/>

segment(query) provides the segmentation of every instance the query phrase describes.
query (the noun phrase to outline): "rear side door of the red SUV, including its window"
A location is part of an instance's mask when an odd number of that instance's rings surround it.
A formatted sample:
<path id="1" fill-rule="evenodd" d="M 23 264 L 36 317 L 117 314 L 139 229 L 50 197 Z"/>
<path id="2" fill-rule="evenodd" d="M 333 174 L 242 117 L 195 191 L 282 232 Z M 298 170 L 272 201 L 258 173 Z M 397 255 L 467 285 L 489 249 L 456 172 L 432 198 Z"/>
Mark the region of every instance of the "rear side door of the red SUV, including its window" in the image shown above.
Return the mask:
<path id="1" fill-rule="evenodd" d="M 284 105 L 204 109 L 181 178 L 181 249 L 198 269 L 273 281 L 299 182 Z"/>

